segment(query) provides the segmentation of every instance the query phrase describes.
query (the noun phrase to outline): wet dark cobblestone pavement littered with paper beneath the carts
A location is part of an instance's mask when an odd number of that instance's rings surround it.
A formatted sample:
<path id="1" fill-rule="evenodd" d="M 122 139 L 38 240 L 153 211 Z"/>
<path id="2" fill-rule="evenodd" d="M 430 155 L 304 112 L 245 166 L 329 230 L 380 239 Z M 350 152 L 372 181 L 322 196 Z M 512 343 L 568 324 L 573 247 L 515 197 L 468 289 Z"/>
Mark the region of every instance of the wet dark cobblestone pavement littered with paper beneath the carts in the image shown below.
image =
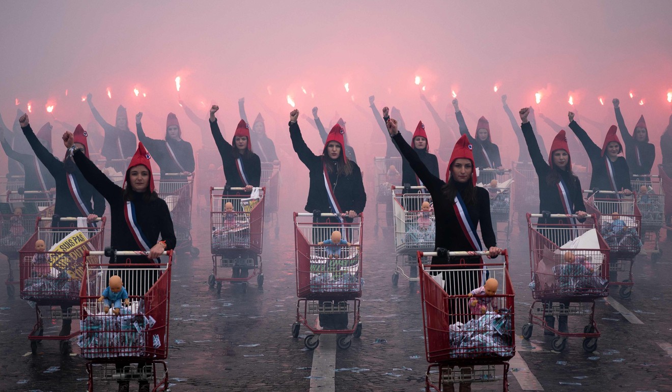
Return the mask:
<path id="1" fill-rule="evenodd" d="M 392 286 L 394 252 L 392 240 L 382 231 L 376 235 L 373 214 L 364 240 L 364 295 L 361 317 L 363 333 L 348 350 L 337 349 L 336 391 L 421 391 L 427 362 L 423 338 L 421 300 L 409 292 L 401 278 Z M 195 214 L 199 221 L 207 219 Z M 224 284 L 221 295 L 209 288 L 212 270 L 208 233 L 198 232 L 200 257 L 179 256 L 175 260 L 170 313 L 170 350 L 167 360 L 173 391 L 308 391 L 313 352 L 304 349 L 302 329 L 298 339 L 290 327 L 296 315 L 294 241 L 289 214 L 280 217 L 284 229 L 280 239 L 266 230 L 263 249 L 263 290 L 252 282 L 246 293 L 239 286 Z M 195 220 L 196 223 L 196 220 Z M 198 225 L 195 225 L 198 227 Z M 532 295 L 528 288 L 530 264 L 525 238 L 513 233 L 510 273 L 516 290 L 516 331 L 527 319 Z M 667 243 L 663 250 L 669 251 Z M 532 344 L 517 345 L 525 366 L 511 366 L 509 390 L 521 391 L 518 377 L 530 370 L 545 391 L 672 391 L 669 373 L 672 359 L 672 329 L 669 303 L 672 290 L 664 276 L 670 276 L 672 261 L 663 253 L 658 264 L 639 256 L 634 268 L 636 286 L 631 299 L 616 301 L 642 324 L 630 323 L 605 301 L 597 301 L 595 317 L 602 337 L 598 348 L 587 354 L 578 338 L 569 341 L 562 353 L 550 351 L 550 339 L 539 327 Z M 4 259 L 3 259 L 4 260 Z M 2 262 L 0 276 L 6 276 Z M 662 288 L 661 288 L 662 287 Z M 38 354 L 30 354 L 26 335 L 34 323 L 34 311 L 19 299 L 0 296 L 0 390 L 84 391 L 85 361 L 73 354 L 61 356 L 58 344 L 43 341 Z M 575 327 L 583 321 L 570 319 Z M 59 325 L 48 331 L 58 332 Z M 523 362 L 517 362 L 523 363 Z M 57 366 L 57 370 L 53 367 Z M 339 370 L 347 368 L 364 368 Z M 48 370 L 52 368 L 52 370 Z M 575 385 L 575 383 L 580 383 Z M 132 391 L 136 385 L 132 385 Z M 474 391 L 501 391 L 501 383 L 474 385 Z M 116 391 L 116 384 L 97 383 L 97 391 Z M 318 389 L 316 389 L 318 390 Z M 319 389 L 324 390 L 324 389 Z"/>

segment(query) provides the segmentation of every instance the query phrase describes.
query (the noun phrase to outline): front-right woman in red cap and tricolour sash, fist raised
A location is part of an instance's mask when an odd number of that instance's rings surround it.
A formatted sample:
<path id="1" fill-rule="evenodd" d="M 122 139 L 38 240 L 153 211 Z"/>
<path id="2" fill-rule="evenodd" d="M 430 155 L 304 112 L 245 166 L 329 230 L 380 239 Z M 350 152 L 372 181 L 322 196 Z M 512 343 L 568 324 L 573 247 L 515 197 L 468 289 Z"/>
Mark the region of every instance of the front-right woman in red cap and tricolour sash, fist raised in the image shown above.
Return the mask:
<path id="1" fill-rule="evenodd" d="M 449 251 L 490 251 L 490 257 L 494 258 L 501 254 L 502 249 L 497 247 L 495 231 L 490 217 L 490 196 L 487 190 L 476 186 L 476 167 L 472 145 L 466 134 L 456 143 L 450 163 L 446 169 L 444 182 L 433 175 L 427 166 L 421 161 L 418 154 L 404 140 L 398 132 L 396 120 L 387 120 L 388 132 L 392 140 L 398 146 L 401 154 L 409 161 L 409 164 L 418 178 L 425 184 L 434 203 L 434 216 L 436 219 L 435 249 L 444 248 Z M 485 247 L 482 245 L 476 232 L 480 223 Z M 431 264 L 481 264 L 480 256 L 466 258 L 457 257 L 434 257 Z M 462 275 L 462 274 L 461 274 Z M 464 274 L 460 282 L 446 282 L 446 292 L 449 295 L 467 295 L 471 290 L 480 286 L 479 274 Z M 466 299 L 456 300 L 451 305 L 452 309 L 468 309 Z M 455 313 L 468 313 L 468 311 L 456 311 Z M 466 322 L 462 317 L 455 315 L 449 320 Z M 468 370 L 462 370 L 466 372 Z M 471 391 L 470 383 L 461 383 L 460 391 Z"/>

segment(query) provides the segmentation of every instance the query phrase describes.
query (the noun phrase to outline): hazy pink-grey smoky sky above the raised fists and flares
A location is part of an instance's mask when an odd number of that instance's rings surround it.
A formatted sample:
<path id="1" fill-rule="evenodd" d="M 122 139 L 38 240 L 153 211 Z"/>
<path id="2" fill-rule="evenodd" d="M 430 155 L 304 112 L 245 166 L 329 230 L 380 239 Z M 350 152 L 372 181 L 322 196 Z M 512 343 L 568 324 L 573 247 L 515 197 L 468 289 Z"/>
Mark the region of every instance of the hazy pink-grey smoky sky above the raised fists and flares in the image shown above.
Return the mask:
<path id="1" fill-rule="evenodd" d="M 263 112 L 269 135 L 285 138 L 289 94 L 304 114 L 319 106 L 327 123 L 339 112 L 361 144 L 375 127 L 352 103 L 368 110 L 372 94 L 378 108 L 400 108 L 411 130 L 422 119 L 429 137 L 438 136 L 419 100 L 425 85 L 442 115 L 456 91 L 468 125 L 487 116 L 504 147 L 512 133 L 501 93 L 513 110 L 534 105 L 561 124 L 570 93 L 579 117 L 600 122 L 615 122 L 611 99 L 620 97 L 626 122 L 644 114 L 657 143 L 670 113 L 670 26 L 669 0 L 1 0 L 0 112 L 11 123 L 17 99 L 22 110 L 32 103 L 34 123 L 48 120 L 46 104 L 62 120 L 85 123 L 81 98 L 90 91 L 110 122 L 123 104 L 130 122 L 142 110 L 149 134 L 163 136 L 167 112 L 188 124 L 175 91 L 181 76 L 182 99 L 204 118 L 206 106 L 219 104 L 227 130 L 245 96 L 248 116 Z M 542 133 L 550 142 L 550 130 Z M 200 135 L 193 139 L 198 147 Z"/>

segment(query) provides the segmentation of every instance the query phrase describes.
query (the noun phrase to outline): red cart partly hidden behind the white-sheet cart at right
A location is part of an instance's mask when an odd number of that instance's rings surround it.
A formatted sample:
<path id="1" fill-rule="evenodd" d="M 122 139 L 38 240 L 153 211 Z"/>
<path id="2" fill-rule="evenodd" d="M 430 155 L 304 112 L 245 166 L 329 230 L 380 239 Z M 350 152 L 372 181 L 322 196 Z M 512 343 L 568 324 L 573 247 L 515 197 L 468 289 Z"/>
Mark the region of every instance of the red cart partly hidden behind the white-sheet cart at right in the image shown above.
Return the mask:
<path id="1" fill-rule="evenodd" d="M 597 219 L 599 232 L 610 249 L 609 284 L 620 286 L 618 295 L 628 299 L 634 285 L 632 265 L 642 250 L 642 214 L 635 202 L 636 195 L 620 199 L 603 197 L 614 194 L 613 191 L 594 192 L 586 199 L 585 206 L 586 212 Z M 619 272 L 628 278 L 620 280 Z"/>

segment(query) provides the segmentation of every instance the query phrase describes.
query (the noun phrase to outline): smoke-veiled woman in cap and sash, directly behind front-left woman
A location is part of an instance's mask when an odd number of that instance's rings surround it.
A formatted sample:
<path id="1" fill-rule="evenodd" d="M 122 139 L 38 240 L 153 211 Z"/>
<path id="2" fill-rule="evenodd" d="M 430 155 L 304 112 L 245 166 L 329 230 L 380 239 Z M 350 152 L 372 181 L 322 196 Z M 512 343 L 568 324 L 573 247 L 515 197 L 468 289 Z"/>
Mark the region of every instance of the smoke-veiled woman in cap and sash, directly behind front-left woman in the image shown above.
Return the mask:
<path id="1" fill-rule="evenodd" d="M 138 131 L 138 141 L 155 157 L 155 161 L 161 169 L 161 182 L 159 193 L 175 192 L 176 187 L 171 182 L 186 183 L 187 175 L 194 172 L 194 150 L 192 144 L 182 140 L 182 130 L 179 127 L 177 116 L 168 114 L 166 120 L 165 140 L 151 139 L 144 134 L 142 129 L 142 112 L 135 115 L 135 126 Z M 166 173 L 178 174 L 167 176 Z"/>

